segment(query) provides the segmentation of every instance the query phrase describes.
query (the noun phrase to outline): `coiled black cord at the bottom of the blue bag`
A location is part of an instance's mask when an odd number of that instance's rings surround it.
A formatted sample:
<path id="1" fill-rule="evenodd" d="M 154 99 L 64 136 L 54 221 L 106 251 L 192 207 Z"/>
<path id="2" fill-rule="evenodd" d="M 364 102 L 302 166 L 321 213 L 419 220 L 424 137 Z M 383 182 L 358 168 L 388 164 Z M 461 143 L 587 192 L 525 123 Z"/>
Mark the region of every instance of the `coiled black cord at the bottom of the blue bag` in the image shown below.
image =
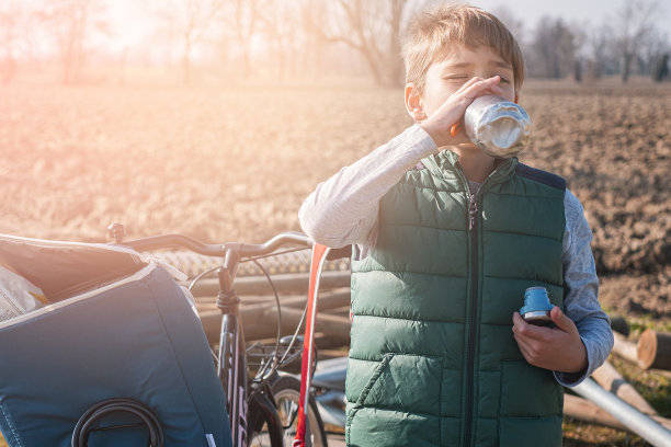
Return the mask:
<path id="1" fill-rule="evenodd" d="M 127 424 L 120 425 L 113 427 L 105 428 L 92 428 L 92 425 L 101 420 L 103 416 L 115 413 L 115 412 L 124 412 L 136 415 L 141 420 L 141 423 L 138 424 Z M 158 419 L 149 411 L 149 409 L 134 399 L 128 398 L 120 398 L 120 399 L 107 399 L 104 401 L 98 402 L 95 405 L 91 406 L 89 410 L 81 415 L 79 421 L 77 421 L 77 425 L 75 425 L 75 431 L 72 432 L 72 447 L 86 447 L 89 442 L 89 434 L 92 431 L 101 431 L 101 429 L 115 429 L 127 426 L 135 425 L 146 425 L 149 431 L 149 447 L 162 447 L 163 446 L 163 432 L 161 429 L 161 424 L 158 422 Z"/>

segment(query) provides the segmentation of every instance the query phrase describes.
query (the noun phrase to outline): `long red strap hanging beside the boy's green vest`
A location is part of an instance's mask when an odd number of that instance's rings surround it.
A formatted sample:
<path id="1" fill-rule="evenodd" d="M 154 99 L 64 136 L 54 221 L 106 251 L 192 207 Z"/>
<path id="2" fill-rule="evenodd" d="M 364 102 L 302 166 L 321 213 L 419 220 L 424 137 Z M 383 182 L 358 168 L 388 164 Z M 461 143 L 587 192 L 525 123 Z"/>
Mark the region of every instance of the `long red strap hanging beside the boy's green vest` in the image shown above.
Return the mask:
<path id="1" fill-rule="evenodd" d="M 305 337 L 303 340 L 303 363 L 300 365 L 300 401 L 298 402 L 298 420 L 296 437 L 293 447 L 311 447 L 309 427 L 307 426 L 308 390 L 312 379 L 312 356 L 315 354 L 315 325 L 317 322 L 317 297 L 319 295 L 319 277 L 326 262 L 329 249 L 326 245 L 315 243 L 312 245 L 312 261 L 310 264 L 310 287 L 308 289 L 308 309 L 305 322 Z"/>

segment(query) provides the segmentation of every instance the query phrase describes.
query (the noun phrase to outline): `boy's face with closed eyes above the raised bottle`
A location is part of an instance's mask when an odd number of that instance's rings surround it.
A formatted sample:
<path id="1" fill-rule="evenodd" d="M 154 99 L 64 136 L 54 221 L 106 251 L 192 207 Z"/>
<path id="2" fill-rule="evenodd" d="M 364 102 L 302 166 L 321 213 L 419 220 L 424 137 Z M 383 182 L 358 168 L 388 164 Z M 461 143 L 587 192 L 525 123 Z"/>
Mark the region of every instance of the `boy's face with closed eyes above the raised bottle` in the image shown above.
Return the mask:
<path id="1" fill-rule="evenodd" d="M 427 71 L 424 92 L 421 95 L 424 113 L 431 116 L 450 95 L 471 78 L 501 77 L 499 87 L 509 101 L 516 101 L 513 68 L 491 47 L 454 45 L 443 59 L 433 62 Z"/>

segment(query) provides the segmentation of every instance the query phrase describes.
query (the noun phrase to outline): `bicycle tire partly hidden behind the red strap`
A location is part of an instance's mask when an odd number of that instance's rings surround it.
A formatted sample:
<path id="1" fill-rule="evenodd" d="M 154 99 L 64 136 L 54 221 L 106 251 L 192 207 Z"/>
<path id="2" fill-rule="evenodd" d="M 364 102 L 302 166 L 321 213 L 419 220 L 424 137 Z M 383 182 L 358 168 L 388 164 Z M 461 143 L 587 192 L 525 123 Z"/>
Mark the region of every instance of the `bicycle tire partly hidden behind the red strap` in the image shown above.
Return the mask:
<path id="1" fill-rule="evenodd" d="M 277 379 L 271 382 L 271 391 L 277 405 L 280 420 L 284 425 L 284 446 L 291 446 L 296 436 L 297 417 L 293 417 L 291 426 L 287 419 L 292 412 L 292 403 L 295 405 L 294 413 L 297 413 L 300 400 L 300 380 L 294 376 L 278 376 Z M 310 424 L 310 434 L 312 435 L 311 445 L 314 447 L 328 447 L 326 429 L 323 428 L 323 422 L 319 415 L 317 401 L 312 393 L 309 396 L 308 404 L 308 422 Z M 295 414 L 292 416 L 295 416 Z"/>

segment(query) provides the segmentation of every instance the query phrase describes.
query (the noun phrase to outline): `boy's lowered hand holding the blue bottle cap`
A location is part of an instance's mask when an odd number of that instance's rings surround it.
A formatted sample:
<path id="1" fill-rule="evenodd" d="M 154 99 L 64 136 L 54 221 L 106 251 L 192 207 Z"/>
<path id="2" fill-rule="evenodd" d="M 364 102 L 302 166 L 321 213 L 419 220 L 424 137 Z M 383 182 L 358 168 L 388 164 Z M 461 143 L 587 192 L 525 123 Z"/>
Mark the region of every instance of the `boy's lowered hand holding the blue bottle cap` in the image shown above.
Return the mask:
<path id="1" fill-rule="evenodd" d="M 530 324 L 513 313 L 513 334 L 522 355 L 539 368 L 580 373 L 588 366 L 587 349 L 573 321 L 557 306 L 550 311 L 556 328 Z"/>

